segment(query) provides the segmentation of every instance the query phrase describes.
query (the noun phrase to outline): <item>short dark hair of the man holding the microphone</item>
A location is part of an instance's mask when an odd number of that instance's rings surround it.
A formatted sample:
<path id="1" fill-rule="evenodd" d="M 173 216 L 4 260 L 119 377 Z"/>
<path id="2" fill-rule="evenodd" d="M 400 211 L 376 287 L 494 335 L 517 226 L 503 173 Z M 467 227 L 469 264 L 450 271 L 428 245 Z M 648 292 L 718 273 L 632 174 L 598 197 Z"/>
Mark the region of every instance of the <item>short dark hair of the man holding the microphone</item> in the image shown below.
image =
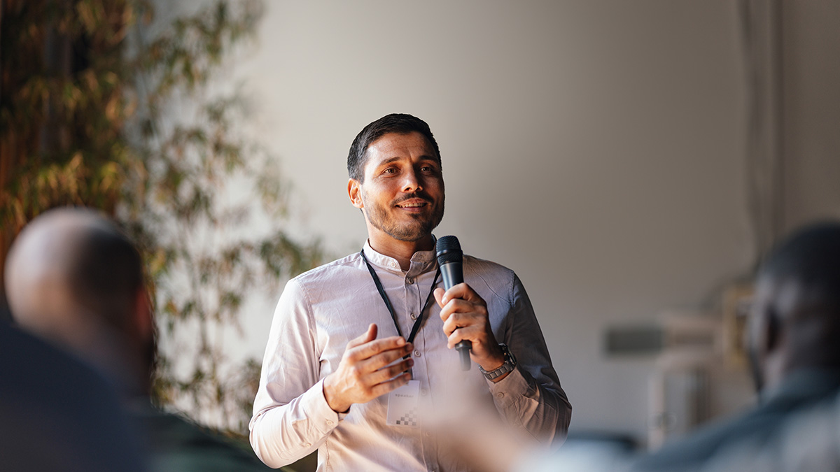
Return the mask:
<path id="1" fill-rule="evenodd" d="M 350 145 L 350 152 L 347 155 L 347 173 L 350 178 L 360 182 L 365 180 L 367 149 L 376 139 L 380 139 L 383 134 L 409 134 L 415 131 L 423 134 L 423 137 L 426 138 L 428 143 L 432 144 L 434 156 L 438 158 L 438 164 L 440 164 L 438 142 L 434 140 L 432 130 L 428 128 L 428 124 L 422 119 L 406 113 L 391 113 L 370 123 L 359 134 L 356 134 L 356 139 Z"/>

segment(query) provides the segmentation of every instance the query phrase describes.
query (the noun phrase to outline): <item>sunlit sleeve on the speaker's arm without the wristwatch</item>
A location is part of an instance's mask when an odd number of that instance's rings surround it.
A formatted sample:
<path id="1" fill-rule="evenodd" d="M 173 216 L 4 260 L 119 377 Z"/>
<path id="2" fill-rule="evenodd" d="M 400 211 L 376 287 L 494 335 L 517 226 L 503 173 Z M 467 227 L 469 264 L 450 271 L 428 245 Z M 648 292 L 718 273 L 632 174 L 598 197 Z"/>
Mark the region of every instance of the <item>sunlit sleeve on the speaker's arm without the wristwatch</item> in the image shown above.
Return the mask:
<path id="1" fill-rule="evenodd" d="M 251 446 L 270 467 L 311 453 L 339 424 L 323 396 L 320 351 L 306 294 L 291 280 L 277 302 L 249 424 Z"/>

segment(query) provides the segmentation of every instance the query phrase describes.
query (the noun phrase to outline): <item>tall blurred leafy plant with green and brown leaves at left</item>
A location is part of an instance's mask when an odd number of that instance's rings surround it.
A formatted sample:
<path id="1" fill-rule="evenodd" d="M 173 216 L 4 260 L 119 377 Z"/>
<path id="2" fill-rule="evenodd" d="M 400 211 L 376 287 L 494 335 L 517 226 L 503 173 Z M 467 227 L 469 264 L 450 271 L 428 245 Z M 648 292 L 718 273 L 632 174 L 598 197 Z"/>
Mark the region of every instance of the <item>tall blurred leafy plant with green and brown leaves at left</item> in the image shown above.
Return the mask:
<path id="1" fill-rule="evenodd" d="M 245 431 L 260 368 L 231 363 L 223 333 L 242 333 L 246 295 L 322 259 L 317 240 L 288 235 L 276 160 L 242 125 L 244 97 L 219 85 L 261 7 L 220 0 L 161 25 L 142 0 L 18 0 L 0 26 L 5 244 L 55 206 L 122 223 L 154 292 L 155 397 L 231 433 Z M 242 229 L 255 218 L 270 228 Z"/>

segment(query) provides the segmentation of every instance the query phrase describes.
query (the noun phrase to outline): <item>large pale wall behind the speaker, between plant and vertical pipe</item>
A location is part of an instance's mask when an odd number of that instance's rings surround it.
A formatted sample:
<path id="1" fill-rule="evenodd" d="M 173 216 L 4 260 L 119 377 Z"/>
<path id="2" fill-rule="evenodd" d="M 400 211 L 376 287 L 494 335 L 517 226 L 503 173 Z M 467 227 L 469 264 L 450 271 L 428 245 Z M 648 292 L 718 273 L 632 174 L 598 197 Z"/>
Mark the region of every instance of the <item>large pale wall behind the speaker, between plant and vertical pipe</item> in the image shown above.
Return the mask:
<path id="1" fill-rule="evenodd" d="M 436 233 L 520 275 L 573 429 L 643 439 L 652 362 L 607 359 L 602 330 L 704 306 L 754 257 L 735 3 L 267 8 L 260 50 L 239 74 L 293 181 L 295 230 L 337 256 L 358 250 L 349 145 L 386 113 L 423 118 L 447 184 Z M 258 355 L 270 316 L 249 319 Z"/>

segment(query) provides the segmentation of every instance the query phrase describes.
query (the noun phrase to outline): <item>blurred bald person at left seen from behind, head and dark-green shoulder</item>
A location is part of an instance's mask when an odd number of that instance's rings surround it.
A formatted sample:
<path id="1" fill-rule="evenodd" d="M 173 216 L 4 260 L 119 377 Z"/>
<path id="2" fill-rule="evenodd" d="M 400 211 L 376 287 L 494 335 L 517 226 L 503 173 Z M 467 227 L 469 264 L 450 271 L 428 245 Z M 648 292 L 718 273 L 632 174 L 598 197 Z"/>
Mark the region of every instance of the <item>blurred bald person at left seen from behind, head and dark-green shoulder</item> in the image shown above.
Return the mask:
<path id="1" fill-rule="evenodd" d="M 155 471 L 267 470 L 254 454 L 152 405 L 155 322 L 134 244 L 83 208 L 45 212 L 9 251 L 13 319 L 112 380 Z"/>

